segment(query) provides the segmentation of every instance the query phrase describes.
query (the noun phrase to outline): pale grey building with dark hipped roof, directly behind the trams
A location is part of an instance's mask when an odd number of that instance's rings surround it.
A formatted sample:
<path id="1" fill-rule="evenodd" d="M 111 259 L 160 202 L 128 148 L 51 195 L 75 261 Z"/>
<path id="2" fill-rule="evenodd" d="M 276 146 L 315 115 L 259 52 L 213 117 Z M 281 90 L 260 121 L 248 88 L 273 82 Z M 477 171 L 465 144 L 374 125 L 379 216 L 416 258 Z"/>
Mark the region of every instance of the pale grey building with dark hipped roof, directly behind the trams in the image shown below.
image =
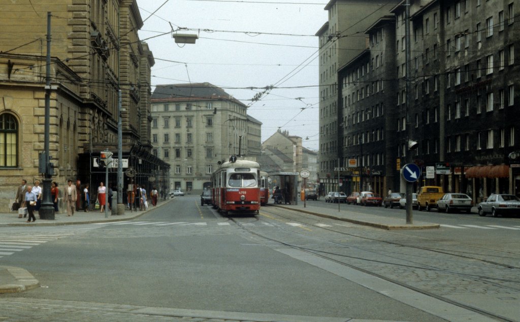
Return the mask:
<path id="1" fill-rule="evenodd" d="M 222 88 L 158 85 L 151 105 L 153 154 L 171 165 L 171 190 L 202 191 L 231 155 L 252 160 L 260 155 L 262 123 Z"/>

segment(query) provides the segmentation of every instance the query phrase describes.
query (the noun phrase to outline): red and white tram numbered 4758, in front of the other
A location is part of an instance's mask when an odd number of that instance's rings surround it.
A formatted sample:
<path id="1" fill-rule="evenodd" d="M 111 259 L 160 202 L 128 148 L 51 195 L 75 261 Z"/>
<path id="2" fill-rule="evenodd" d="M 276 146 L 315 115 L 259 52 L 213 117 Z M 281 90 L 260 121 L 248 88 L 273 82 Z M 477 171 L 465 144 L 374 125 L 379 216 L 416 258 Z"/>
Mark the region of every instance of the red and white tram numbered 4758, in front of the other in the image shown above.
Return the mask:
<path id="1" fill-rule="evenodd" d="M 257 213 L 260 209 L 259 180 L 258 162 L 231 157 L 212 174 L 213 207 L 223 213 Z"/>

